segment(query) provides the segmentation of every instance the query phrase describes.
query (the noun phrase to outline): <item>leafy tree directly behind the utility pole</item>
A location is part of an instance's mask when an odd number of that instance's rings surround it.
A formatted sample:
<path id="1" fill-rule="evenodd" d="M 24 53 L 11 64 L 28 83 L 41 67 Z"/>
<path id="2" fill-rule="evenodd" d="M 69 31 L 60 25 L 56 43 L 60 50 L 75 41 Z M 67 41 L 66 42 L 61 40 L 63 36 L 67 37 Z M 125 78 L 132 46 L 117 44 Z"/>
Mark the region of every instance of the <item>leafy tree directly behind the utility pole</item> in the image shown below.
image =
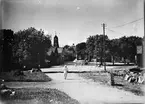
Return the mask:
<path id="1" fill-rule="evenodd" d="M 107 44 L 109 42 L 107 35 L 94 35 L 90 36 L 86 42 L 86 52 L 89 57 L 89 61 L 92 58 L 99 58 L 100 64 L 103 64 L 103 57 L 108 51 Z M 105 50 L 104 50 L 105 49 Z"/>

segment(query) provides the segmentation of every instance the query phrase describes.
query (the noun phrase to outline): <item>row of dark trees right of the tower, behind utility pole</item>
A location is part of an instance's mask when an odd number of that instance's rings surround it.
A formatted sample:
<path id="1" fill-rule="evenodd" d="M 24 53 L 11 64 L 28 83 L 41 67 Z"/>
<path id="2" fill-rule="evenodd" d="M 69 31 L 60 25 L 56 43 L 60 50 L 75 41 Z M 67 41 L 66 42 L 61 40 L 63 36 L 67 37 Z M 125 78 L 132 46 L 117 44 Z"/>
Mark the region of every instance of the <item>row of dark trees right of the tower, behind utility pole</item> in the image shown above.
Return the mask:
<path id="1" fill-rule="evenodd" d="M 137 46 L 142 44 L 142 38 L 137 36 L 109 39 L 107 35 L 94 35 L 87 38 L 86 42 L 76 45 L 77 55 L 91 61 L 96 59 L 100 64 L 103 61 L 124 62 L 127 60 L 135 62 Z"/>

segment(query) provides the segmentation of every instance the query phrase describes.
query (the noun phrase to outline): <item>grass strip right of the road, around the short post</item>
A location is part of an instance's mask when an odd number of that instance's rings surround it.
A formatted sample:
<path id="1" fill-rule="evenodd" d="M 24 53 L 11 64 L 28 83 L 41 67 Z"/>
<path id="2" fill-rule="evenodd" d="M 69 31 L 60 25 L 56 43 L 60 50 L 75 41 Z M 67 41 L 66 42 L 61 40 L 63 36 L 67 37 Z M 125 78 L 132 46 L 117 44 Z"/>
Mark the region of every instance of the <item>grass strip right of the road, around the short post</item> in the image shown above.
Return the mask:
<path id="1" fill-rule="evenodd" d="M 85 79 L 91 79 L 94 82 L 110 86 L 110 76 L 108 73 L 81 73 L 79 74 L 81 77 Z M 143 84 L 129 83 L 123 79 L 123 76 L 115 76 L 114 77 L 114 86 L 115 88 L 132 92 L 138 96 L 144 96 L 144 92 L 142 90 Z"/>

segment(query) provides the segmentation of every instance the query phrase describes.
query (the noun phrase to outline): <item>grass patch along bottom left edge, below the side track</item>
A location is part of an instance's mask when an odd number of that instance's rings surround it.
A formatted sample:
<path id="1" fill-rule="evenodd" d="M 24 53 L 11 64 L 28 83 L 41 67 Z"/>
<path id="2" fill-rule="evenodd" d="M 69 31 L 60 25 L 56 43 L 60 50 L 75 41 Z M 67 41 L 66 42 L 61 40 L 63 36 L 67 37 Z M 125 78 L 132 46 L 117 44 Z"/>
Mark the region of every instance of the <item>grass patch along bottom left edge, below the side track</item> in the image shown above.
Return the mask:
<path id="1" fill-rule="evenodd" d="M 57 89 L 18 88 L 12 97 L 1 98 L 6 104 L 79 104 Z"/>

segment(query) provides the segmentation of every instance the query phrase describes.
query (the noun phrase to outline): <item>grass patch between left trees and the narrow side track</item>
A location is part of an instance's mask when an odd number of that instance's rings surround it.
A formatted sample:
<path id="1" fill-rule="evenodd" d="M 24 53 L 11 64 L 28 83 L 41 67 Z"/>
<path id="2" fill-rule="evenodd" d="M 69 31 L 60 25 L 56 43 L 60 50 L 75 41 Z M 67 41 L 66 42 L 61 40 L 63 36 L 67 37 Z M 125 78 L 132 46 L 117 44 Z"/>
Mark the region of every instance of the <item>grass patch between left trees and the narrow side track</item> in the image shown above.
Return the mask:
<path id="1" fill-rule="evenodd" d="M 21 82 L 47 82 L 51 81 L 45 73 L 43 72 L 29 72 L 25 71 L 24 75 L 15 76 L 15 71 L 11 72 L 3 72 L 0 74 L 0 79 L 4 79 L 5 81 L 21 81 Z"/>

